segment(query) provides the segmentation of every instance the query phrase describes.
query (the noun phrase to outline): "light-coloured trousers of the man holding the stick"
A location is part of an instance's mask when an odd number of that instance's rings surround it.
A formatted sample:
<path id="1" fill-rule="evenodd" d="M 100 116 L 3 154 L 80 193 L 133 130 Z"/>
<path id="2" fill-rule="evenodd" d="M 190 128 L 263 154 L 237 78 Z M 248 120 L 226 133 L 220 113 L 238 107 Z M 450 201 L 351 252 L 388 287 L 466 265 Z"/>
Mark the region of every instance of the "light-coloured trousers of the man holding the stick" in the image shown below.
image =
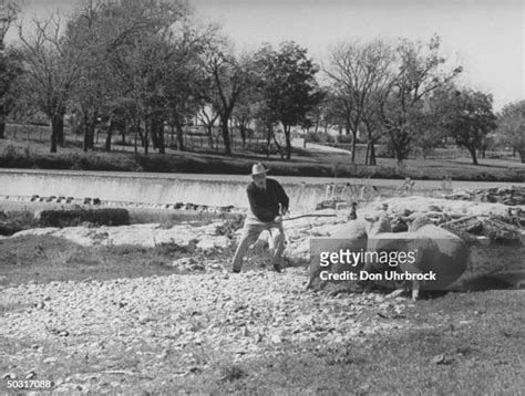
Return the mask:
<path id="1" fill-rule="evenodd" d="M 243 267 L 243 259 L 246 254 L 246 250 L 250 244 L 255 243 L 260 233 L 265 230 L 270 232 L 274 244 L 274 256 L 271 258 L 271 264 L 280 264 L 282 252 L 285 251 L 285 230 L 282 229 L 282 222 L 269 221 L 264 222 L 256 218 L 253 213 L 246 217 L 245 226 L 243 228 L 243 237 L 240 238 L 239 246 L 235 251 L 233 269 L 234 271 L 240 271 Z"/>

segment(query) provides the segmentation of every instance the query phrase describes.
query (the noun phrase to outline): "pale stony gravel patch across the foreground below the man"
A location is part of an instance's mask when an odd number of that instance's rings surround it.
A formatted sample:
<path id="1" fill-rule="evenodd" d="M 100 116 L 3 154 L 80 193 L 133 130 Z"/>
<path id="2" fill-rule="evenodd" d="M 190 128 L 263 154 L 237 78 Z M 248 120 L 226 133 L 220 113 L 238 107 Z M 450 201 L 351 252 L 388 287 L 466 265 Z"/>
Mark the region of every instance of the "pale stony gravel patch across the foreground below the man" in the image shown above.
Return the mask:
<path id="1" fill-rule="evenodd" d="M 328 299 L 305 292 L 303 281 L 303 269 L 288 269 L 4 288 L 2 304 L 20 309 L 1 319 L 0 336 L 30 341 L 9 355 L 4 379 L 49 378 L 56 394 L 103 394 L 115 390 L 115 382 L 119 392 L 136 386 L 121 384 L 124 376 L 154 389 L 207 368 L 206 358 L 188 347 L 243 362 L 286 344 L 359 342 L 411 326 L 403 312 L 413 305 L 404 299 Z M 136 362 L 114 361 L 115 350 Z M 169 355 L 177 356 L 175 364 Z M 75 356 L 94 364 L 73 376 L 51 374 Z"/>

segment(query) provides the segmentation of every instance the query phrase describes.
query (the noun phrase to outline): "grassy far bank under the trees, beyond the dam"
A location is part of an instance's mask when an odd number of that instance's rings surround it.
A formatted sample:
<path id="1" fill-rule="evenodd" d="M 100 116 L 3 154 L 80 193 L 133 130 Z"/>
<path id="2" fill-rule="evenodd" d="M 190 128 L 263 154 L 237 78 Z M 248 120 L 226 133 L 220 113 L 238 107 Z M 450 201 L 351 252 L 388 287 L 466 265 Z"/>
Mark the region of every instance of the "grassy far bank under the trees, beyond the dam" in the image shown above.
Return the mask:
<path id="1" fill-rule="evenodd" d="M 8 134 L 8 136 L 10 136 Z M 101 139 L 102 140 L 102 139 Z M 204 150 L 198 146 L 195 152 L 167 149 L 166 155 L 151 153 L 134 155 L 133 146 L 113 146 L 112 153 L 102 150 L 99 144 L 95 152 L 85 154 L 74 138 L 68 140 L 59 153 L 50 154 L 49 144 L 33 135 L 18 135 L 0 140 L 0 167 L 41 168 L 41 169 L 83 169 L 83 170 L 123 170 L 155 173 L 200 173 L 200 174 L 240 174 L 245 175 L 254 161 L 262 160 L 277 176 L 317 176 L 317 177 L 372 177 L 442 179 L 451 176 L 455 180 L 503 180 L 524 181 L 525 164 L 518 157 L 480 158 L 474 166 L 467 157 L 456 159 L 406 159 L 402 167 L 395 159 L 378 158 L 377 166 L 350 163 L 350 155 L 294 148 L 291 160 L 280 156 L 244 150 L 237 147 L 231 156 L 215 150 Z M 142 153 L 142 148 L 138 149 Z"/>

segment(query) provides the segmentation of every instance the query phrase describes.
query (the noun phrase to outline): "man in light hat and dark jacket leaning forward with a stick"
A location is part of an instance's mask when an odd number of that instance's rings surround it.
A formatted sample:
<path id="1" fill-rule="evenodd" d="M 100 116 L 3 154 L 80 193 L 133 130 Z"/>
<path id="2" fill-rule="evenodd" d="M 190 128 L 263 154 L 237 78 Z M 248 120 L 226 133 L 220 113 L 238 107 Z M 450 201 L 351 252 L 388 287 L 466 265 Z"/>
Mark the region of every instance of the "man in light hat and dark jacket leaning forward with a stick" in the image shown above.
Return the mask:
<path id="1" fill-rule="evenodd" d="M 250 211 L 246 217 L 243 237 L 235 252 L 234 272 L 240 272 L 246 250 L 259 238 L 264 230 L 268 230 L 274 238 L 274 257 L 271 258 L 274 270 L 282 271 L 281 256 L 285 250 L 282 215 L 288 211 L 289 198 L 277 180 L 266 177 L 267 173 L 268 170 L 260 163 L 251 167 L 254 181 L 246 189 Z"/>

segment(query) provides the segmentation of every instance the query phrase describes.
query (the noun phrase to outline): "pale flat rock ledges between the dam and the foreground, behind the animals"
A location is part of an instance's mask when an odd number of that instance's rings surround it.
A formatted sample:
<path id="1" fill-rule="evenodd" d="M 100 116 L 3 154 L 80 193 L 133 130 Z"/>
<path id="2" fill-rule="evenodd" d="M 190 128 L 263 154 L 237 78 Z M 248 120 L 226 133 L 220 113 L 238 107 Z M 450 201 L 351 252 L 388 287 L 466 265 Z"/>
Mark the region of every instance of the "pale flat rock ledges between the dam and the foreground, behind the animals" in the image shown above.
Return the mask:
<path id="1" fill-rule="evenodd" d="M 524 205 L 509 207 L 500 202 L 451 200 L 419 196 L 397 197 L 377 200 L 359 207 L 358 221 L 364 221 L 366 217 L 373 217 L 380 211 L 385 211 L 392 219 L 422 213 L 430 217 L 436 223 L 455 222 L 459 226 L 463 225 L 461 222 L 462 219 L 467 219 L 463 231 L 470 230 L 469 227 L 472 227 L 473 231 L 476 232 L 472 235 L 464 232 L 464 235 L 472 237 L 472 239 L 481 238 L 481 240 L 485 241 L 485 246 L 488 244 L 488 237 L 492 237 L 492 233 L 485 232 L 486 235 L 484 235 L 483 230 L 480 231 L 478 228 L 483 226 L 483 221 L 485 221 L 486 226 L 490 219 L 498 219 L 497 225 L 503 225 L 502 227 L 511 230 L 512 238 L 525 240 L 525 229 L 521 226 L 521 222 L 525 220 Z M 309 238 L 330 237 L 338 232 L 348 221 L 348 208 L 340 210 L 316 210 L 306 213 L 306 217 L 301 217 L 305 213 L 292 212 L 289 219 L 284 222 L 287 235 L 285 257 L 295 264 L 306 264 L 309 259 Z M 47 227 L 20 231 L 13 235 L 12 238 L 22 236 L 54 236 L 65 238 L 82 246 L 133 244 L 154 247 L 161 243 L 176 243 L 181 247 L 187 247 L 193 244 L 208 256 L 213 256 L 216 249 L 224 249 L 229 246 L 231 237 L 236 239 L 240 237 L 240 229 L 225 230 L 225 222 L 227 220 L 214 219 L 205 222 L 183 221 L 177 225 L 143 223 L 120 227 L 93 227 L 93 225 L 66 228 Z M 490 222 L 488 225 L 492 223 Z M 457 231 L 462 231 L 461 227 L 456 228 L 460 228 Z M 451 227 L 450 229 L 454 228 Z M 490 231 L 492 232 L 492 229 Z M 228 232 L 231 232 L 231 235 L 225 235 Z M 260 241 L 267 241 L 268 237 L 268 232 L 265 231 L 260 237 Z M 202 264 L 206 267 L 206 262 Z M 494 264 L 502 263 L 495 262 Z M 493 270 L 497 270 L 497 268 L 493 268 Z"/>

